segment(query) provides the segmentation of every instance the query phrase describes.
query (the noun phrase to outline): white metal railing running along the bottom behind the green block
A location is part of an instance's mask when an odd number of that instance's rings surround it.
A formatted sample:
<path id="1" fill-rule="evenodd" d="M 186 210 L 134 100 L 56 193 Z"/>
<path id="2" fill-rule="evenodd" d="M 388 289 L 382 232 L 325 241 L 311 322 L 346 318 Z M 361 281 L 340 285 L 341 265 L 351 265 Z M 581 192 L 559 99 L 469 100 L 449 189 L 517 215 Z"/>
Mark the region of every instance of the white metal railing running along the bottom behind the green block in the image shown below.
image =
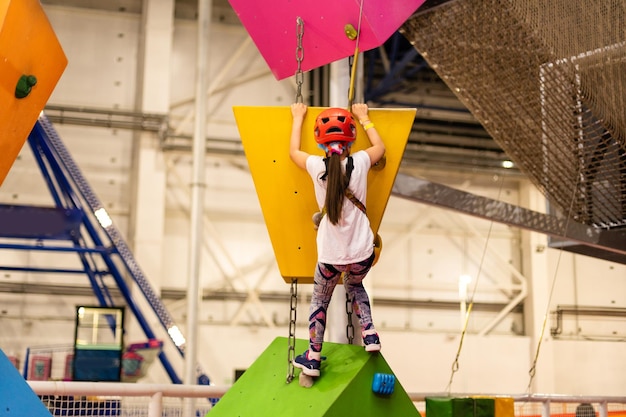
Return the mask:
<path id="1" fill-rule="evenodd" d="M 193 399 L 195 415 L 206 415 L 212 399 L 223 397 L 230 386 L 181 384 L 135 384 L 114 382 L 28 381 L 52 415 L 145 415 L 181 416 L 186 401 Z M 491 397 L 514 401 L 516 417 L 575 417 L 579 404 L 592 404 L 597 417 L 626 417 L 626 396 L 580 396 L 558 394 L 408 393 L 425 415 L 427 398 Z M 104 413 L 104 414 L 103 414 Z"/>

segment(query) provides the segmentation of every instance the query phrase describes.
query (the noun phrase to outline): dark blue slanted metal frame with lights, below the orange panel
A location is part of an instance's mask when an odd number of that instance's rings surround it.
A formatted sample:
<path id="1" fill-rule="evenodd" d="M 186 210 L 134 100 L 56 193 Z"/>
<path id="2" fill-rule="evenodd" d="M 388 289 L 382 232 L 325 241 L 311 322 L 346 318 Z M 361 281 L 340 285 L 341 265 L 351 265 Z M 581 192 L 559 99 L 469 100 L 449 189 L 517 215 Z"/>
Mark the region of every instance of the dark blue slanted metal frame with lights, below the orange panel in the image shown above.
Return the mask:
<path id="1" fill-rule="evenodd" d="M 5 212 L 12 210 L 11 213 L 17 216 L 16 218 L 19 221 L 31 222 L 31 224 L 41 223 L 43 217 L 48 216 L 48 218 L 54 218 L 57 223 L 64 221 L 65 227 L 60 227 L 59 224 L 56 224 L 54 229 L 43 229 L 40 233 L 31 230 L 23 235 L 15 236 L 14 228 L 8 228 L 6 224 L 3 227 L 2 222 L 0 222 L 0 236 L 36 240 L 36 243 L 33 245 L 0 243 L 0 249 L 75 252 L 80 259 L 83 269 L 2 266 L 0 270 L 84 273 L 89 279 L 98 303 L 103 307 L 115 307 L 113 298 L 104 280 L 105 277 L 111 277 L 146 337 L 156 339 L 154 331 L 148 324 L 124 280 L 124 276 L 130 276 L 140 288 L 166 332 L 168 329 L 176 326 L 163 302 L 144 276 L 119 231 L 113 224 L 103 226 L 99 223 L 94 213 L 103 209 L 103 205 L 92 191 L 45 115 L 39 117 L 28 137 L 28 143 L 56 208 L 0 205 L 0 212 L 2 210 L 5 210 Z M 11 230 L 12 233 L 7 232 L 7 230 Z M 46 245 L 45 241 L 50 239 L 66 240 L 71 242 L 72 246 Z M 98 261 L 101 262 L 100 265 L 104 263 L 104 269 L 98 267 Z M 172 339 L 172 341 L 174 340 Z M 176 345 L 176 347 L 181 356 L 184 357 L 184 345 Z M 171 381 L 176 384 L 182 383 L 165 352 L 162 351 L 159 354 L 159 360 Z M 202 368 L 198 365 L 196 369 L 199 383 L 210 384 L 210 380 L 202 371 Z"/>

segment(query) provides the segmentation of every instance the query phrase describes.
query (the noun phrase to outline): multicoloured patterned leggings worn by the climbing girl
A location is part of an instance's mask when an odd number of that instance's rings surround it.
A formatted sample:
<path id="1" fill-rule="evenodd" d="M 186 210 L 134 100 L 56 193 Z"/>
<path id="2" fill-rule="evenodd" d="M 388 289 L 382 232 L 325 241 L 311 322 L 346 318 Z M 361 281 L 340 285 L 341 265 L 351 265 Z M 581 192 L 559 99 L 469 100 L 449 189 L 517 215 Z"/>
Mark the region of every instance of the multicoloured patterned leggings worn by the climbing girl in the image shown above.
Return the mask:
<path id="1" fill-rule="evenodd" d="M 374 329 L 370 300 L 362 282 L 373 262 L 373 253 L 368 259 L 350 265 L 329 265 L 318 262 L 315 268 L 313 295 L 309 310 L 309 348 L 311 351 L 322 351 L 326 330 L 326 311 L 342 272 L 344 273 L 343 285 L 352 300 L 352 311 L 359 319 L 361 331 Z"/>

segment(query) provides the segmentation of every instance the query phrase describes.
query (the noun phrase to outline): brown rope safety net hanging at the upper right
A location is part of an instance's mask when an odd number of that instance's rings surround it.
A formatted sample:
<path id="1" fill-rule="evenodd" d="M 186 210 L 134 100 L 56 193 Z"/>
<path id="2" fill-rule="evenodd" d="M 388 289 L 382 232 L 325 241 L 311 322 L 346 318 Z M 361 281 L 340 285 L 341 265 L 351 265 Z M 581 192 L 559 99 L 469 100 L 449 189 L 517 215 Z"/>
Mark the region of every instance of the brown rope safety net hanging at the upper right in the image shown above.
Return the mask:
<path id="1" fill-rule="evenodd" d="M 557 214 L 626 226 L 626 2 L 456 0 L 401 32 Z"/>

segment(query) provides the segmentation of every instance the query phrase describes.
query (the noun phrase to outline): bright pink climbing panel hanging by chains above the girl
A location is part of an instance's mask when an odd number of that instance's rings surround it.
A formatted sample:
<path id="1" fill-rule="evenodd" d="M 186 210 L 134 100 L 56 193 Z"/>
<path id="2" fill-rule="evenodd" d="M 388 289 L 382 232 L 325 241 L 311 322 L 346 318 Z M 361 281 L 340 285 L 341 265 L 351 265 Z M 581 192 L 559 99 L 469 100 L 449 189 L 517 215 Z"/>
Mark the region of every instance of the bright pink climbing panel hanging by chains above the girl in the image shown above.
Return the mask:
<path id="1" fill-rule="evenodd" d="M 277 80 L 296 73 L 296 21 L 304 22 L 302 70 L 354 54 L 345 26 L 359 27 L 359 51 L 382 45 L 425 0 L 229 0 Z"/>

